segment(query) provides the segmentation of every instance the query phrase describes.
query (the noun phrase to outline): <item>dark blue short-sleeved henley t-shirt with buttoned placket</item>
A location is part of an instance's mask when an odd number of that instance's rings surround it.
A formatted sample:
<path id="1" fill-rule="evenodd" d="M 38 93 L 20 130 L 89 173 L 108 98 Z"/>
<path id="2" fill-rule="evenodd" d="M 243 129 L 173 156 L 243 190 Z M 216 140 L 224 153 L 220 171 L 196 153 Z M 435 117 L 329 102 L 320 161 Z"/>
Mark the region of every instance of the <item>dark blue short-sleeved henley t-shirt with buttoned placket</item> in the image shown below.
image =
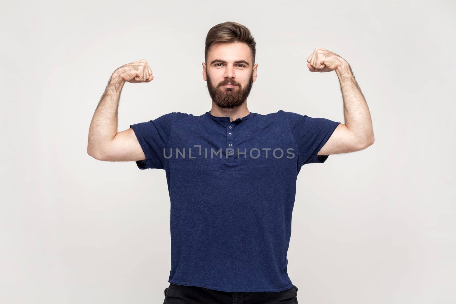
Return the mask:
<path id="1" fill-rule="evenodd" d="M 173 112 L 132 124 L 145 160 L 166 171 L 171 201 L 169 283 L 228 292 L 293 284 L 287 251 L 296 178 L 339 122 L 282 110 L 242 119 Z"/>

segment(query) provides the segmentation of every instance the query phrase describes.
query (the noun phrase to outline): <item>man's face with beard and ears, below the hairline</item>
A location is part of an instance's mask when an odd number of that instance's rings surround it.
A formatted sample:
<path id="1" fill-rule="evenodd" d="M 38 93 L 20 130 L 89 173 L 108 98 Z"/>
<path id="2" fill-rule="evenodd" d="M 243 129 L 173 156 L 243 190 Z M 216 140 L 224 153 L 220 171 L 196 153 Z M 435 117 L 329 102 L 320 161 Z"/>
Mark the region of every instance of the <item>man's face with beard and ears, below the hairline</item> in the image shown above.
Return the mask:
<path id="1" fill-rule="evenodd" d="M 212 45 L 203 62 L 203 78 L 214 103 L 220 108 L 235 108 L 245 102 L 256 80 L 258 64 L 252 67 L 252 52 L 243 42 Z M 228 84 L 231 84 L 228 86 Z"/>

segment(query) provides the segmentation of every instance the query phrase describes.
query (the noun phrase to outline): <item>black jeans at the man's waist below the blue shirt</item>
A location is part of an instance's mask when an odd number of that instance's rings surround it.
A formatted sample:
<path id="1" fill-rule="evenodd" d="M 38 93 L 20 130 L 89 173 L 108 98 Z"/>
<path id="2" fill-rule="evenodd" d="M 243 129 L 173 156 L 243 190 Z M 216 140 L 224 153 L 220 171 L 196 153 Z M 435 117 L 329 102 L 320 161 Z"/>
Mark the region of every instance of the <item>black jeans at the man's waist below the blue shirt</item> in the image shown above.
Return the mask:
<path id="1" fill-rule="evenodd" d="M 228 292 L 170 283 L 163 304 L 298 304 L 298 288 L 277 292 Z"/>

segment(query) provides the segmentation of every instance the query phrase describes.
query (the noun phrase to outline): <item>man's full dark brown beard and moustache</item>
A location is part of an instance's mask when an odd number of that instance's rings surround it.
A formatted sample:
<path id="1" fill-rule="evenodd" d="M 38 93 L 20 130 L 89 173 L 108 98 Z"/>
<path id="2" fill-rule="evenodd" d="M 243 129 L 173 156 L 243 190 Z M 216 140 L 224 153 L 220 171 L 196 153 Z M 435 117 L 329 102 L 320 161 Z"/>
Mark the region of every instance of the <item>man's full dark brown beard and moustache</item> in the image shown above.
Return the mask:
<path id="1" fill-rule="evenodd" d="M 211 96 L 213 102 L 218 105 L 220 108 L 235 108 L 240 106 L 245 102 L 247 97 L 249 97 L 250 90 L 254 83 L 254 73 L 250 74 L 249 83 L 244 89 L 241 88 L 241 85 L 235 80 L 225 79 L 222 83 L 218 85 L 217 88 L 212 87 L 212 81 L 209 77 L 209 74 L 206 73 L 207 78 L 207 89 L 209 90 L 209 95 Z M 225 88 L 222 87 L 223 84 L 231 82 L 238 87 Z"/>

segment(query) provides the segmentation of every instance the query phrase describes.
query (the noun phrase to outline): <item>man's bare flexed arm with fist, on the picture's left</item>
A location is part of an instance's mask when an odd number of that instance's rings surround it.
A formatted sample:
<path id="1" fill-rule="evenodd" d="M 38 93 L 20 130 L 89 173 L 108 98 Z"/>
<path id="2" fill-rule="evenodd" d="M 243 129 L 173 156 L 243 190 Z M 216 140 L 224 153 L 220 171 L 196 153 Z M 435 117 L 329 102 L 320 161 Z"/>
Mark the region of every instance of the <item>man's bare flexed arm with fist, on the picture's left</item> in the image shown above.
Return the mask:
<path id="1" fill-rule="evenodd" d="M 132 128 L 117 132 L 120 93 L 125 82 L 150 82 L 152 71 L 145 60 L 119 67 L 109 80 L 90 123 L 87 153 L 97 160 L 145 160 Z"/>

